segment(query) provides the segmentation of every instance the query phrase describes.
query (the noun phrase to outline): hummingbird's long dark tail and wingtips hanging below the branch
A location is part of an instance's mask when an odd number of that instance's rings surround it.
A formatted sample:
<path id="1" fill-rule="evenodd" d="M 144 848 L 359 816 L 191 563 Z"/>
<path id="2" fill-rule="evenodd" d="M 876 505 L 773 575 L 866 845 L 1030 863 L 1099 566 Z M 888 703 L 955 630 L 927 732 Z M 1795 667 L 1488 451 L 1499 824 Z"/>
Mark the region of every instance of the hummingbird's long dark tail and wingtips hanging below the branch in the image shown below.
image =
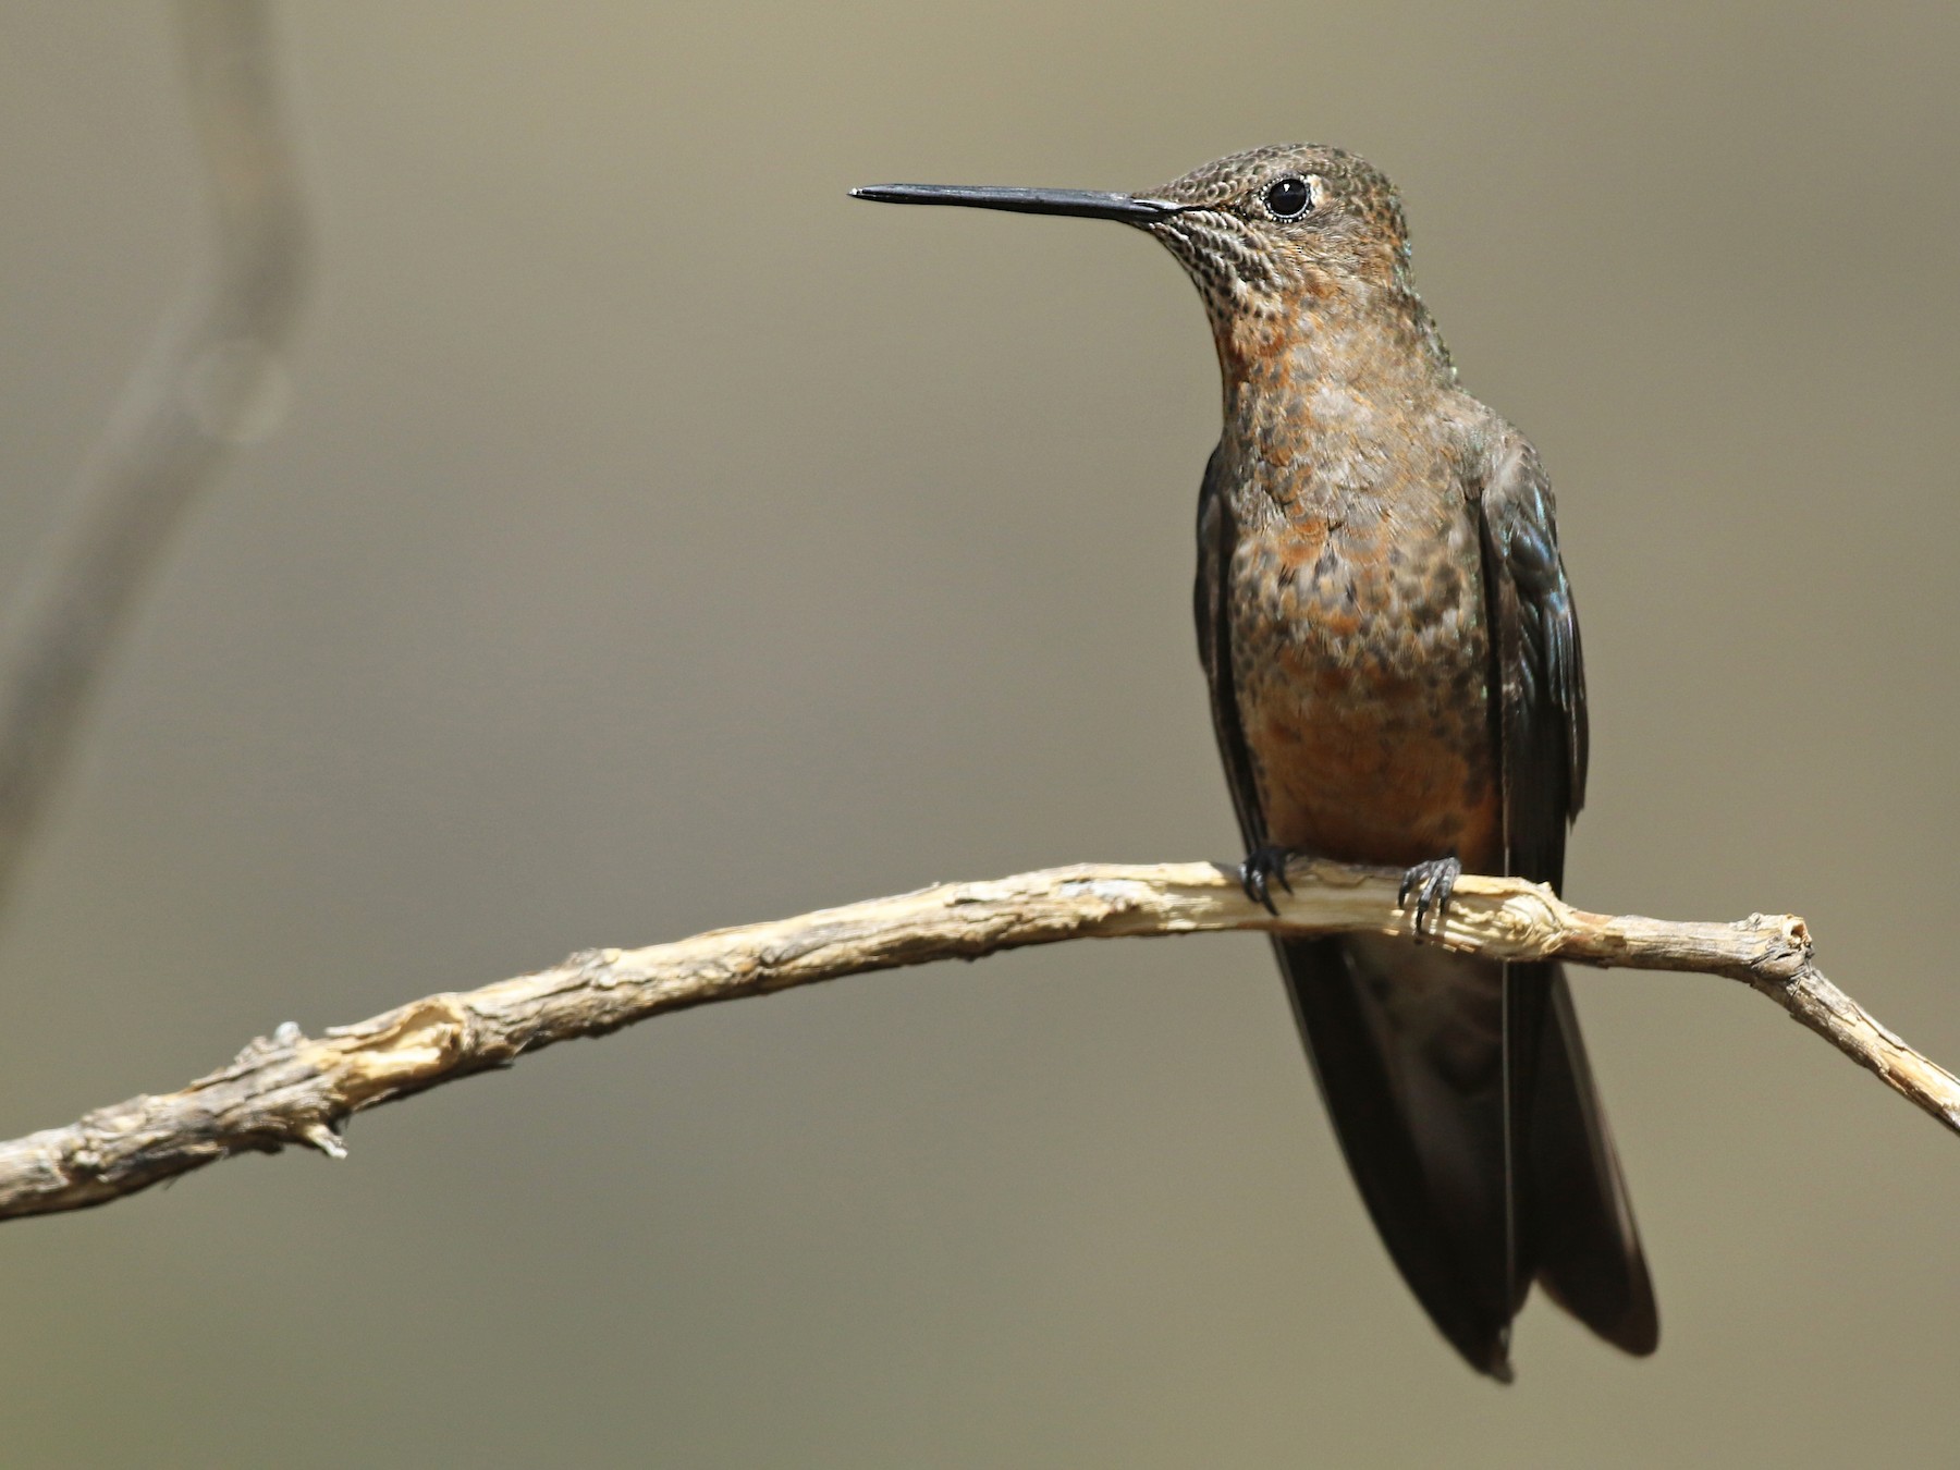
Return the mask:
<path id="1" fill-rule="evenodd" d="M 1403 941 L 1274 949 L 1368 1213 L 1470 1366 L 1509 1382 L 1533 1280 L 1652 1352 L 1654 1290 L 1558 966 L 1509 966 L 1505 984 L 1503 966 Z M 1505 994 L 1531 1033 L 1509 1047 Z"/>

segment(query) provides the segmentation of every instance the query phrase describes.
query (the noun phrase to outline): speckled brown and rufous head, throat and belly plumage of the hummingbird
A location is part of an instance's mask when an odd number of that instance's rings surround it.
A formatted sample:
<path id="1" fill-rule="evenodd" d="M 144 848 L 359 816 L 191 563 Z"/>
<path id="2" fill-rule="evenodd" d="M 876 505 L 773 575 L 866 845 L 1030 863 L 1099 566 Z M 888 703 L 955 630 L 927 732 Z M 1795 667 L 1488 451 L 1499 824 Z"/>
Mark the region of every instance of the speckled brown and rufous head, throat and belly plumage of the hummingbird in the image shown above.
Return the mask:
<path id="1" fill-rule="evenodd" d="M 1258 214 L 1303 174 L 1311 227 Z M 1501 860 L 1482 547 L 1464 486 L 1507 431 L 1456 388 L 1394 190 L 1337 149 L 1235 155 L 1151 190 L 1225 388 L 1207 484 L 1260 839 L 1364 862 Z M 1194 227 L 1194 220 L 1201 225 Z"/>

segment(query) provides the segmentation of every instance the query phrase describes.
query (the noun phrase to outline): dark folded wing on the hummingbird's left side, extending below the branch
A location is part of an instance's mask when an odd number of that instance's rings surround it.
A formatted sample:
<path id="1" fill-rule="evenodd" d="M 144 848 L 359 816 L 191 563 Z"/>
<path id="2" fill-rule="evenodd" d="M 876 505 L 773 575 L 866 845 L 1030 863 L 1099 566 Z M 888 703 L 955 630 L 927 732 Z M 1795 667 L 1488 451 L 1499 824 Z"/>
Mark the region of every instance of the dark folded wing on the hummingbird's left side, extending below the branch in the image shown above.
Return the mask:
<path id="1" fill-rule="evenodd" d="M 1211 455 L 1198 500 L 1198 653 L 1211 690 L 1233 809 L 1247 851 L 1266 845 L 1252 757 L 1239 725 L 1231 662 L 1229 574 L 1237 527 Z M 1313 1060 L 1341 1151 L 1362 1201 L 1431 1321 L 1480 1372 L 1509 1376 L 1511 1307 L 1478 1260 L 1490 1254 L 1474 1223 L 1439 1207 L 1423 1135 L 1390 1076 L 1376 1002 L 1337 939 L 1274 939 L 1294 1015 Z"/>

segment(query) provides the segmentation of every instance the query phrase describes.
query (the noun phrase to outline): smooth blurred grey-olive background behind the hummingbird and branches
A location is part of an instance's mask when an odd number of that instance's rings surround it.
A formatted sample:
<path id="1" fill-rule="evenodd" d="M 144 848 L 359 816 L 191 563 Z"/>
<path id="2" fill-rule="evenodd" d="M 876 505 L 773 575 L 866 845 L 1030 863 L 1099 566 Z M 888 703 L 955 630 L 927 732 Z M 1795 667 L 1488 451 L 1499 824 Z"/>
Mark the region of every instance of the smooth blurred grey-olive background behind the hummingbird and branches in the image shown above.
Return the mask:
<path id="1" fill-rule="evenodd" d="M 172 545 L 0 931 L 0 1135 L 582 945 L 1235 857 L 1201 312 L 1113 225 L 1403 188 L 1560 488 L 1568 892 L 1795 909 L 1960 1058 L 1950 4 L 296 4 L 290 414 Z M 149 4 L 0 2 L 0 576 L 202 243 Z M 1250 937 L 717 1005 L 0 1231 L 24 1466 L 1960 1454 L 1960 1143 L 1744 990 L 1576 978 L 1662 1294 L 1472 1378 Z"/>

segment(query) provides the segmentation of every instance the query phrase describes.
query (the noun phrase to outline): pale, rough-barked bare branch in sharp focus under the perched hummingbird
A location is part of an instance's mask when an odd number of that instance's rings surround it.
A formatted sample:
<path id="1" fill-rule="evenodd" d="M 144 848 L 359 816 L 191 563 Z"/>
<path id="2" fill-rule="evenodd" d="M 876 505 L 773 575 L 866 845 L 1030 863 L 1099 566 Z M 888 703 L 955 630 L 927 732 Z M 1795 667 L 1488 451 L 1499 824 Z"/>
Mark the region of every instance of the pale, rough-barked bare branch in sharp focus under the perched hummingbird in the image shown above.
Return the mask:
<path id="1" fill-rule="evenodd" d="M 1409 931 L 1396 900 L 1399 872 L 1311 862 L 1296 864 L 1290 876 L 1294 892 L 1276 896 L 1278 915 L 1247 900 L 1235 870 L 1209 862 L 1074 866 L 941 884 L 676 945 L 584 951 L 551 970 L 427 996 L 318 1039 L 286 1023 L 182 1092 L 133 1098 L 69 1127 L 0 1143 L 0 1219 L 108 1203 L 237 1152 L 300 1143 L 339 1158 L 339 1127 L 353 1113 L 510 1066 L 559 1041 L 602 1037 L 737 996 L 1064 939 Z M 1960 1080 L 1811 968 L 1801 919 L 1605 917 L 1515 878 L 1466 874 L 1437 939 L 1490 958 L 1742 980 L 1960 1131 Z"/>

